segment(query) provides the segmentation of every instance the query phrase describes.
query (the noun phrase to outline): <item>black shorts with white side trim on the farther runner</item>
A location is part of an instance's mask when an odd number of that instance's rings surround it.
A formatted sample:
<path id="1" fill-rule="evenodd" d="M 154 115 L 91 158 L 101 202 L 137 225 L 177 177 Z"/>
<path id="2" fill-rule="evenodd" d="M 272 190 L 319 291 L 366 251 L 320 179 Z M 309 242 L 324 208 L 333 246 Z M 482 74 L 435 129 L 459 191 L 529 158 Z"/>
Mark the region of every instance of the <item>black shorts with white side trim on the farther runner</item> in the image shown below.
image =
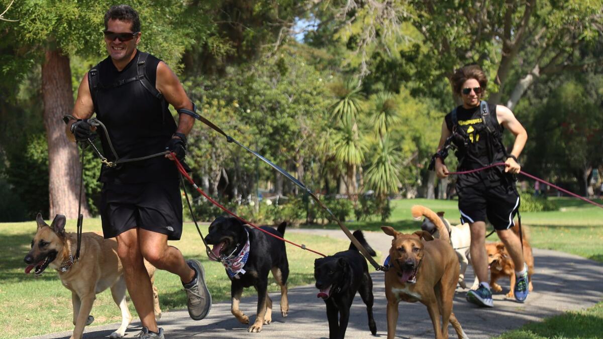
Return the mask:
<path id="1" fill-rule="evenodd" d="M 487 219 L 496 230 L 513 227 L 513 219 L 519 210 L 519 195 L 513 185 L 514 182 L 507 180 L 501 180 L 497 185 L 467 184 L 459 177 L 456 189 L 461 223 L 485 222 Z"/>

